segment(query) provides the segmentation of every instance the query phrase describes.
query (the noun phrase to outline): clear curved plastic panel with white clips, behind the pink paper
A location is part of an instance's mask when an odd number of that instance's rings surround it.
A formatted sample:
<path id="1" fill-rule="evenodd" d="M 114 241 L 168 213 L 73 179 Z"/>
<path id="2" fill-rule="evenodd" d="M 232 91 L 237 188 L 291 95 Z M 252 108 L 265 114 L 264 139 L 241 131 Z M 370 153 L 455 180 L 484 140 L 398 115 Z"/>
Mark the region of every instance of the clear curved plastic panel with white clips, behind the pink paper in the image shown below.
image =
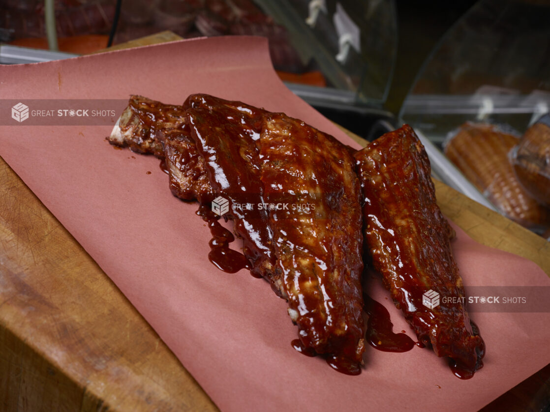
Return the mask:
<path id="1" fill-rule="evenodd" d="M 397 53 L 397 17 L 390 1 L 255 0 L 289 32 L 305 65 L 327 87 L 293 87 L 321 105 L 382 108 Z"/>

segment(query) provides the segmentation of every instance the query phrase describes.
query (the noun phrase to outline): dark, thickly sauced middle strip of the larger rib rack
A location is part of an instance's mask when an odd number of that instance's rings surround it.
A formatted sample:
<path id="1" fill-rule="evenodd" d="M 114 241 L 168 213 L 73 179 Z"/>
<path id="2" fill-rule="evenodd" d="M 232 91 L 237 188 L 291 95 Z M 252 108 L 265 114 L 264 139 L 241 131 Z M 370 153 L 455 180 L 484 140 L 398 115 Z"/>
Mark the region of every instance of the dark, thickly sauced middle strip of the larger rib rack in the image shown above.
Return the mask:
<path id="1" fill-rule="evenodd" d="M 252 262 L 251 272 L 265 277 L 282 295 L 273 277 L 272 233 L 263 203 L 259 149 L 261 116 L 265 110 L 241 102 L 229 102 L 206 94 L 191 95 L 184 106 L 197 151 L 216 196 L 230 201 L 227 216 L 235 234 L 243 240 L 243 253 Z M 250 203 L 252 207 L 247 208 Z"/>

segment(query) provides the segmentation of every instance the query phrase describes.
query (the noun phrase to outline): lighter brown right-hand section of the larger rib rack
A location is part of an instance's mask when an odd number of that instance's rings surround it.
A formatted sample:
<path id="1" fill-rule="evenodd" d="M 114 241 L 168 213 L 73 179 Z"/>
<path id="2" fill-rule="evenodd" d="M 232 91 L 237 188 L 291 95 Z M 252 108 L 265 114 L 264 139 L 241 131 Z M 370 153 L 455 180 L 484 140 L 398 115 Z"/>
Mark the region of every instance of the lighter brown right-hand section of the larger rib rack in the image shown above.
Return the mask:
<path id="1" fill-rule="evenodd" d="M 326 354 L 333 368 L 359 374 L 365 325 L 354 159 L 332 136 L 276 113 L 264 116 L 260 148 L 276 272 L 301 350 Z"/>

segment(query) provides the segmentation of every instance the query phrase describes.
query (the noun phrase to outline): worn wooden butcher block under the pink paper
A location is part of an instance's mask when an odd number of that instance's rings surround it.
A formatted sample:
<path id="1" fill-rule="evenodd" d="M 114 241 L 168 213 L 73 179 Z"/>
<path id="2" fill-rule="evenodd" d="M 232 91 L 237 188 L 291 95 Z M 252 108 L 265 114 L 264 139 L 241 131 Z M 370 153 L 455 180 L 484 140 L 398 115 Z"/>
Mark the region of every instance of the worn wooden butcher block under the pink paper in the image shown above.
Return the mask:
<path id="1" fill-rule="evenodd" d="M 443 213 L 477 242 L 550 274 L 550 243 L 443 183 L 436 191 Z M 549 382 L 547 367 L 484 410 L 535 410 Z M 0 158 L 0 411 L 107 410 L 218 409 Z"/>

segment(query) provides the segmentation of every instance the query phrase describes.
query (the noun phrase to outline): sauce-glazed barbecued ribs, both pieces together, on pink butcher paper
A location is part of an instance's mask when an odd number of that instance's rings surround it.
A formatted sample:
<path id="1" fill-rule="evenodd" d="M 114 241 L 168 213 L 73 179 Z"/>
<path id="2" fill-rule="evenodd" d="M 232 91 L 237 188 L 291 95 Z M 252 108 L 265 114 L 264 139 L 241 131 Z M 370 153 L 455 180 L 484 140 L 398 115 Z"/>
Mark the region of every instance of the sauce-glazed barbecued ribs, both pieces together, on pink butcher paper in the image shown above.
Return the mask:
<path id="1" fill-rule="evenodd" d="M 353 153 L 301 120 L 242 102 L 193 94 L 180 106 L 132 96 L 107 140 L 161 158 L 172 193 L 199 202 L 212 263 L 248 268 L 287 300 L 299 352 L 361 372 L 365 259 L 420 344 L 449 357 L 462 377 L 481 368 L 483 341 L 464 306 L 421 304 L 428 289 L 464 296 L 464 288 L 454 231 L 409 126 Z M 243 254 L 229 248 L 233 234 L 210 208 L 220 198 L 232 205 L 222 215 L 233 221 Z"/>

